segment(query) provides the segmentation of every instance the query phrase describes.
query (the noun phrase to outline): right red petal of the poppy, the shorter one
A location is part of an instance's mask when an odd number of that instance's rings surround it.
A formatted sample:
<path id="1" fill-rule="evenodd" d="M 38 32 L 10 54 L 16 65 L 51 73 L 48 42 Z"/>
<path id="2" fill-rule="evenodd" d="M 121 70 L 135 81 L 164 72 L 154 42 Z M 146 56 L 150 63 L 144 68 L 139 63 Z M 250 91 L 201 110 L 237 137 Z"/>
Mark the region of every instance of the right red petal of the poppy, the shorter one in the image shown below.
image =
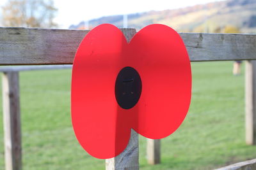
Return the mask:
<path id="1" fill-rule="evenodd" d="M 147 138 L 164 138 L 176 131 L 189 109 L 191 66 L 186 47 L 172 28 L 154 24 L 141 29 L 129 48 L 142 81 L 133 127 Z"/>

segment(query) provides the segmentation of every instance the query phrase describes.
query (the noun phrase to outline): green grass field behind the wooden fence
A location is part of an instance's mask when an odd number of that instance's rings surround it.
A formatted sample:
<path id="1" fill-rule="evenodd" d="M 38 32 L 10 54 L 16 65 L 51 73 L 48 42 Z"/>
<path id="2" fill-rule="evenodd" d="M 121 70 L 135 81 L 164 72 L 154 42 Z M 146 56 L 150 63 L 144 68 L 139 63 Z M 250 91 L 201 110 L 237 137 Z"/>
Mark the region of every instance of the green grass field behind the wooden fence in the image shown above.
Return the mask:
<path id="1" fill-rule="evenodd" d="M 256 158 L 256 146 L 244 142 L 244 71 L 233 76 L 232 62 L 194 62 L 192 71 L 188 116 L 174 134 L 162 139 L 159 165 L 147 164 L 146 141 L 140 137 L 142 170 L 213 169 Z M 70 70 L 20 73 L 24 170 L 104 169 L 104 160 L 88 155 L 74 136 L 70 77 Z M 2 105 L 0 111 L 4 169 Z"/>

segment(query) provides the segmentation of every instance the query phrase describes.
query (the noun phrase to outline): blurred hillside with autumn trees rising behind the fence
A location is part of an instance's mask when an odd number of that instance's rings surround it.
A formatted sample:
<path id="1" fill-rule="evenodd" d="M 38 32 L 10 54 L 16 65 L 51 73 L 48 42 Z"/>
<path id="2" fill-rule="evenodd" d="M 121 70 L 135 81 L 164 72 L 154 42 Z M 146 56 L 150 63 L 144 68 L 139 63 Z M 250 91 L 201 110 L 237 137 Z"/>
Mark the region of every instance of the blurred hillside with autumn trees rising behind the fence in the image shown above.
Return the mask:
<path id="1" fill-rule="evenodd" d="M 89 21 L 90 29 L 103 23 L 123 26 L 123 16 L 114 15 Z M 227 0 L 189 6 L 177 10 L 148 11 L 128 15 L 129 27 L 165 24 L 179 32 L 221 32 L 227 25 L 241 32 L 256 33 L 256 0 Z M 84 29 L 84 22 L 70 29 Z"/>

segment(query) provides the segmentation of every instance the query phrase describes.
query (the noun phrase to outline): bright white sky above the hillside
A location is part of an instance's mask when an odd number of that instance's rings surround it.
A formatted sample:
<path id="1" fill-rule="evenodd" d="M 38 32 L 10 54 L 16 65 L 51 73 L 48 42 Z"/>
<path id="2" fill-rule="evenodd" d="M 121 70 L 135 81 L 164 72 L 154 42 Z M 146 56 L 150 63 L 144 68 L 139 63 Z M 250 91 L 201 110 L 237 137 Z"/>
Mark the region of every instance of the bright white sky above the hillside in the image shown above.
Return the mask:
<path id="1" fill-rule="evenodd" d="M 0 0 L 0 6 L 6 1 Z M 54 0 L 54 5 L 58 8 L 55 22 L 60 28 L 67 29 L 71 24 L 108 15 L 175 9 L 212 1 L 221 0 Z"/>

